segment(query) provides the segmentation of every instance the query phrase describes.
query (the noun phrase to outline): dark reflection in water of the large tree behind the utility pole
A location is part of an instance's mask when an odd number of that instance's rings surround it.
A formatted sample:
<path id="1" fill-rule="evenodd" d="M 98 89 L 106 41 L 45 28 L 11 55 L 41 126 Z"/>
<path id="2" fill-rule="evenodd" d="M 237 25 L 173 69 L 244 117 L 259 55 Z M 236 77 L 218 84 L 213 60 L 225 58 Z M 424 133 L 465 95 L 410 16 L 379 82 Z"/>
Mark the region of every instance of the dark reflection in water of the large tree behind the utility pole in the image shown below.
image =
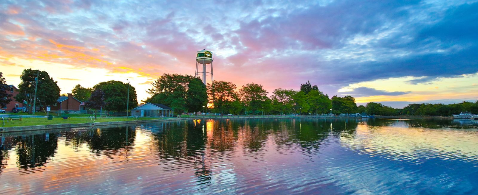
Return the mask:
<path id="1" fill-rule="evenodd" d="M 26 135 L 15 137 L 17 163 L 20 168 L 43 166 L 57 146 L 57 134 Z"/>

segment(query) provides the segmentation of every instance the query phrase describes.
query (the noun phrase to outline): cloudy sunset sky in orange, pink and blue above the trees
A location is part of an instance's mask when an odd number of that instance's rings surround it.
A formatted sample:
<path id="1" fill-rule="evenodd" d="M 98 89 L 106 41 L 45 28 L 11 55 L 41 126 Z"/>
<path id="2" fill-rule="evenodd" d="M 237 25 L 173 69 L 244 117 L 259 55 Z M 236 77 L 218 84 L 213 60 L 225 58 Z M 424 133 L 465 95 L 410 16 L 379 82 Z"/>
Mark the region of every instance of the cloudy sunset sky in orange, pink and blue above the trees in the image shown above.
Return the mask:
<path id="1" fill-rule="evenodd" d="M 1 0 L 0 72 L 49 72 L 61 93 L 128 79 L 138 100 L 163 73 L 299 90 L 359 105 L 478 99 L 478 1 Z"/>

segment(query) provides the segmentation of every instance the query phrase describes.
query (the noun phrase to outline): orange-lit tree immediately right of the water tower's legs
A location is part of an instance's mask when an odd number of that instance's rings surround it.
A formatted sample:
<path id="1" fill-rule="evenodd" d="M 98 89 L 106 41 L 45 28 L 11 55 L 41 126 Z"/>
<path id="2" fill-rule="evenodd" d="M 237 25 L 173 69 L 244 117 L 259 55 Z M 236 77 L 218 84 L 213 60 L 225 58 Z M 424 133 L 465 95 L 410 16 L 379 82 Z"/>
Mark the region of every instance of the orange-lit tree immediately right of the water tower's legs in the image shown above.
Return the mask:
<path id="1" fill-rule="evenodd" d="M 213 109 L 221 114 L 231 113 L 231 109 L 235 110 L 233 104 L 239 100 L 235 90 L 236 85 L 232 82 L 214 81 L 214 83 L 207 84 L 209 98 L 214 97 L 212 101 L 210 100 L 213 103 Z"/>

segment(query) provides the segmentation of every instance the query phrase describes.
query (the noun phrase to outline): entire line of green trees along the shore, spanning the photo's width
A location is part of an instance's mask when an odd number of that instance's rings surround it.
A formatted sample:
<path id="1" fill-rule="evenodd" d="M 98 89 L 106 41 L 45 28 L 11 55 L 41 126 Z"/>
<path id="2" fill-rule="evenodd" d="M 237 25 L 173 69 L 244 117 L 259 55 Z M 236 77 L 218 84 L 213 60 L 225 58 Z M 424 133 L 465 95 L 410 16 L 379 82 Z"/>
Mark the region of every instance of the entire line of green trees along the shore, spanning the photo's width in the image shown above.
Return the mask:
<path id="1" fill-rule="evenodd" d="M 33 94 L 38 77 L 36 103 L 53 105 L 60 96 L 60 88 L 48 72 L 25 69 L 22 82 L 18 85 L 19 94 L 11 97 L 5 79 L 0 72 L 0 106 L 4 107 L 12 98 L 17 102 L 25 101 L 31 108 Z M 136 89 L 130 87 L 130 104 L 128 110 L 138 106 Z M 90 109 L 108 111 L 126 111 L 126 94 L 128 83 L 120 81 L 100 82 L 92 88 L 80 84 L 72 89 L 72 95 Z M 214 81 L 204 85 L 194 76 L 181 74 L 163 74 L 152 82 L 147 90 L 151 95 L 145 103 L 162 103 L 171 107 L 175 113 L 207 112 L 221 114 L 339 114 L 368 113 L 373 115 L 442 115 L 471 112 L 478 113 L 478 100 L 475 103 L 462 102 L 454 104 L 409 104 L 402 109 L 385 106 L 381 103 L 367 103 L 357 106 L 352 96 L 331 98 L 320 91 L 317 85 L 309 81 L 300 85 L 300 90 L 275 89 L 270 96 L 261 84 L 246 83 L 240 89 L 227 81 Z M 32 109 L 29 109 L 31 112 Z"/>

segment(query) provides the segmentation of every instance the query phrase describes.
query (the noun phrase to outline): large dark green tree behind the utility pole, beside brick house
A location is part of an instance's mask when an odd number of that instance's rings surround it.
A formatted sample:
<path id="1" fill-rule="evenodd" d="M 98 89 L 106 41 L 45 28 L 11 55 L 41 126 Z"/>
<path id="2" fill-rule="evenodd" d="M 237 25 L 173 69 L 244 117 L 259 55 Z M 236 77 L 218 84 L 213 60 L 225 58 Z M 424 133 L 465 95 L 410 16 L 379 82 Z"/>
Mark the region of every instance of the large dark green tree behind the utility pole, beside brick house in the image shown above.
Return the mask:
<path id="1" fill-rule="evenodd" d="M 48 72 L 25 69 L 22 72 L 19 93 L 15 96 L 17 102 L 25 100 L 29 105 L 29 112 L 32 113 L 33 96 L 35 93 L 35 77 L 38 74 L 38 86 L 36 91 L 37 106 L 51 105 L 56 103 L 60 97 L 60 88 L 57 82 L 50 77 Z"/>

